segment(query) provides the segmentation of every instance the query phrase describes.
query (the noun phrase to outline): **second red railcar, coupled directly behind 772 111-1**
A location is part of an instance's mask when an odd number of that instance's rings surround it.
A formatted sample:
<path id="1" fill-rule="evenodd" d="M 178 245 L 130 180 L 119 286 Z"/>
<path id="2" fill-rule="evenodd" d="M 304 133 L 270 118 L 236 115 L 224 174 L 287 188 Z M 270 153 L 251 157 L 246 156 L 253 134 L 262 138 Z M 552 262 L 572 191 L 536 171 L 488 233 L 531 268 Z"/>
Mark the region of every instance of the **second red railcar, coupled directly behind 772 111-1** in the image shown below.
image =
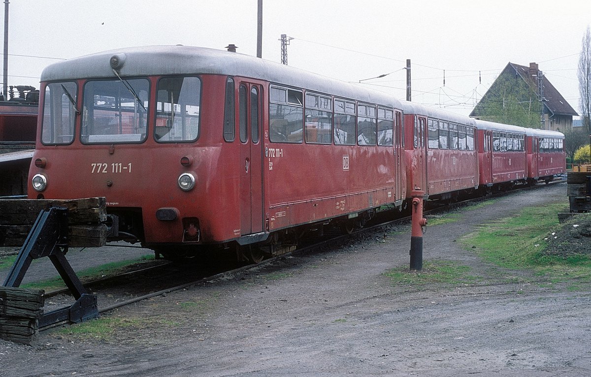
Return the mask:
<path id="1" fill-rule="evenodd" d="M 450 199 L 478 189 L 475 121 L 467 116 L 402 102 L 407 144 L 407 192 Z"/>

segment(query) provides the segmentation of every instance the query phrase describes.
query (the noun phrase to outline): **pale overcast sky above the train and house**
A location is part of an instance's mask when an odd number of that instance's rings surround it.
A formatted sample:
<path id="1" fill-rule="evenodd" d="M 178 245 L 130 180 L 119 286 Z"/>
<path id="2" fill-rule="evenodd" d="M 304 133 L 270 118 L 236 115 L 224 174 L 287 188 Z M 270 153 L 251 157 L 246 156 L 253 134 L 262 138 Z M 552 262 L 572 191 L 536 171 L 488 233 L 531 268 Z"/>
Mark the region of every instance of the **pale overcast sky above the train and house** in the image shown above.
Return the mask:
<path id="1" fill-rule="evenodd" d="M 256 22 L 257 0 L 10 0 L 8 85 L 38 88 L 49 64 L 120 47 L 232 43 L 256 56 Z M 286 34 L 290 66 L 398 99 L 410 59 L 412 100 L 463 115 L 506 64 L 535 62 L 579 111 L 589 25 L 583 0 L 263 0 L 262 58 L 279 63 Z"/>

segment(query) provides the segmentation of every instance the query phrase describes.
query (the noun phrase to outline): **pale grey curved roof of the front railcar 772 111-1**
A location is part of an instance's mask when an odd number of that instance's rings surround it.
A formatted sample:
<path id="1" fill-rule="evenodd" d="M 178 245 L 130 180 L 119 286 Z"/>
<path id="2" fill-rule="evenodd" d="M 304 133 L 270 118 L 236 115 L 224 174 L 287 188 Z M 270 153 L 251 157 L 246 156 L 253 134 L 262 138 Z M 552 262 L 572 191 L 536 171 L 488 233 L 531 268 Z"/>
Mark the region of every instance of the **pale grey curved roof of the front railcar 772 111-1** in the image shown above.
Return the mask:
<path id="1" fill-rule="evenodd" d="M 115 74 L 111 70 L 109 60 L 115 54 L 125 54 L 124 65 L 119 70 L 122 77 L 168 74 L 242 76 L 400 108 L 400 102 L 386 93 L 262 58 L 184 45 L 126 47 L 60 61 L 43 70 L 41 81 L 113 78 Z"/>

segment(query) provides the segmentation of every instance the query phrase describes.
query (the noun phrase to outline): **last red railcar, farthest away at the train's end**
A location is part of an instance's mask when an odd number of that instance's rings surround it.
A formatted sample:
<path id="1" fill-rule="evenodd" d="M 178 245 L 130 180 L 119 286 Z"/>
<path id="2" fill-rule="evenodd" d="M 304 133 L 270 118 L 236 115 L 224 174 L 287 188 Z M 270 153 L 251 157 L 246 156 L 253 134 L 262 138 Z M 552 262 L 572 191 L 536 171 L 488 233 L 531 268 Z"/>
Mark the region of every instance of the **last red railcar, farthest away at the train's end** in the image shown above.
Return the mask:
<path id="1" fill-rule="evenodd" d="M 527 177 L 549 182 L 566 171 L 564 134 L 546 129 L 526 128 Z"/>

